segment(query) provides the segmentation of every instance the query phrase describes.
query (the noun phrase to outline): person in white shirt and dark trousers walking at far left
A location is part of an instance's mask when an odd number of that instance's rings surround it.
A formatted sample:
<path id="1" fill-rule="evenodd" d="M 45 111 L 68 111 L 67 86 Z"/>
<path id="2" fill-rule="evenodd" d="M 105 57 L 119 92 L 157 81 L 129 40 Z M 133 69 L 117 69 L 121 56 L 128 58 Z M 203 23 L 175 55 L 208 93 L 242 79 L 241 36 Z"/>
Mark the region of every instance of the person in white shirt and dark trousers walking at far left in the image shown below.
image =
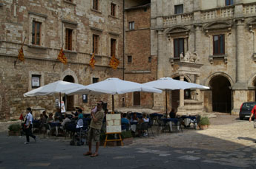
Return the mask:
<path id="1" fill-rule="evenodd" d="M 33 115 L 31 113 L 31 108 L 27 108 L 27 115 L 25 117 L 25 133 L 26 133 L 26 138 L 27 138 L 27 142 L 24 142 L 25 145 L 30 143 L 30 137 L 32 137 L 33 139 L 35 139 L 36 142 L 36 136 L 34 136 L 32 134 L 32 120 L 33 120 Z"/>

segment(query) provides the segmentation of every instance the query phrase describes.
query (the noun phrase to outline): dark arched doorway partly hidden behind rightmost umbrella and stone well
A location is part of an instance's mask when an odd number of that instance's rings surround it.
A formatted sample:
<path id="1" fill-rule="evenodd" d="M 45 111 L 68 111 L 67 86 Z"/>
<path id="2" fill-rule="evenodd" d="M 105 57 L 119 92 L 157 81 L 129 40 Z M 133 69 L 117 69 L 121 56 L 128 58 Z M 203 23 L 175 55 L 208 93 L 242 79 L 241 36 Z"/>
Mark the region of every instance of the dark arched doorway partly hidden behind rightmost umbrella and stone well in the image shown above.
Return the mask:
<path id="1" fill-rule="evenodd" d="M 180 77 L 174 77 L 175 80 L 180 80 Z M 186 77 L 184 77 L 184 81 L 188 82 Z M 184 90 L 184 99 L 190 98 L 190 89 Z M 180 90 L 172 90 L 171 91 L 171 108 L 174 108 L 176 111 L 180 104 Z"/>

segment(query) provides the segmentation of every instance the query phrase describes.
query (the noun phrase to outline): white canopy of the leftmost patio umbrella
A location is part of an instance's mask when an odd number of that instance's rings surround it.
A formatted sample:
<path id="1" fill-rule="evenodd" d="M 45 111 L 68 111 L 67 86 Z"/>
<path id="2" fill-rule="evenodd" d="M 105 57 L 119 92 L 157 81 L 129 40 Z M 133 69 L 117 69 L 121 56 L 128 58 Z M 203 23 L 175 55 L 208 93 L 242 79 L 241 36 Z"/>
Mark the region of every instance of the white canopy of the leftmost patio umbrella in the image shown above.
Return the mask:
<path id="1" fill-rule="evenodd" d="M 83 85 L 77 84 L 77 83 L 70 83 L 70 82 L 65 82 L 62 80 L 49 83 L 45 86 L 41 86 L 37 89 L 33 89 L 30 92 L 24 93 L 24 97 L 27 96 L 45 96 L 45 95 L 52 95 L 56 93 L 66 93 L 71 89 L 79 89 L 84 87 Z"/>

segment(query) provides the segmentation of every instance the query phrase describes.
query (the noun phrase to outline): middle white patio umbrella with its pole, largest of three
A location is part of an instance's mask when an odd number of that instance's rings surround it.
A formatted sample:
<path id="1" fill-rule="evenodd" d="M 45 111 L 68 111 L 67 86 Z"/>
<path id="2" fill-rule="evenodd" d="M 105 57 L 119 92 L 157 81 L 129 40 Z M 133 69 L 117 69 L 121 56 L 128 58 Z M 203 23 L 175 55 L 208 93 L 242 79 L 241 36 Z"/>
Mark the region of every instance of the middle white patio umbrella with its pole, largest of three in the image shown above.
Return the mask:
<path id="1" fill-rule="evenodd" d="M 151 86 L 145 86 L 140 83 L 135 83 L 119 78 L 108 78 L 98 83 L 93 83 L 84 86 L 80 89 L 73 89 L 66 94 L 112 94 L 112 111 L 114 111 L 114 94 L 125 94 L 128 92 L 155 92 L 162 93 L 161 90 Z"/>

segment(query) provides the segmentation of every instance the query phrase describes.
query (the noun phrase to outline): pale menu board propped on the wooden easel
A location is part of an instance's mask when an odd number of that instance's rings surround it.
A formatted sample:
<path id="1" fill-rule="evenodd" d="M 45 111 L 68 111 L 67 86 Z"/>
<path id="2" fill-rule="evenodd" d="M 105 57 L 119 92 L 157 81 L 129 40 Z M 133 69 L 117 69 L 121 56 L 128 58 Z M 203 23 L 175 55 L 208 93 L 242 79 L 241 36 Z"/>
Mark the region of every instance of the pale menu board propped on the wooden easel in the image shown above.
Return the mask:
<path id="1" fill-rule="evenodd" d="M 106 114 L 106 134 L 121 133 L 121 114 Z"/>

